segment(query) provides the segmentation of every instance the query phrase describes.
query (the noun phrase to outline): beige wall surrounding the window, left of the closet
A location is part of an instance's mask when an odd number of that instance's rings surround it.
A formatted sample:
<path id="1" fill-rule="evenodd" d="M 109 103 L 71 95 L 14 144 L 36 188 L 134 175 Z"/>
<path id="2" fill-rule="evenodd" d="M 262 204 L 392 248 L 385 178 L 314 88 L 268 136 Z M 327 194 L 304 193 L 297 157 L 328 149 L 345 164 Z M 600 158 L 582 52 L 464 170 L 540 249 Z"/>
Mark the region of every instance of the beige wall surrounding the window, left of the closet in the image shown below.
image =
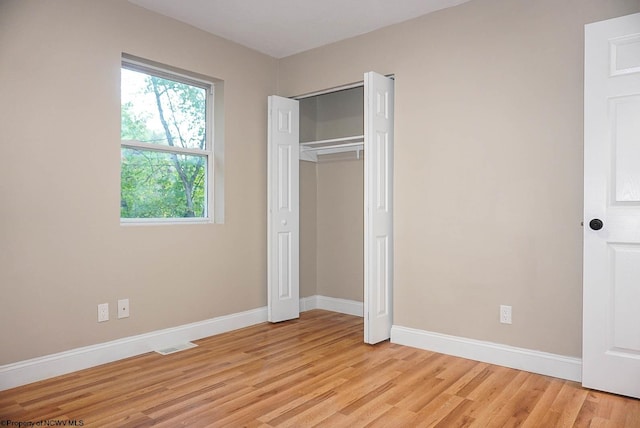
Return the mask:
<path id="1" fill-rule="evenodd" d="M 225 224 L 120 226 L 122 52 L 224 80 Z M 125 0 L 0 2 L 0 365 L 266 305 L 276 68 Z"/>

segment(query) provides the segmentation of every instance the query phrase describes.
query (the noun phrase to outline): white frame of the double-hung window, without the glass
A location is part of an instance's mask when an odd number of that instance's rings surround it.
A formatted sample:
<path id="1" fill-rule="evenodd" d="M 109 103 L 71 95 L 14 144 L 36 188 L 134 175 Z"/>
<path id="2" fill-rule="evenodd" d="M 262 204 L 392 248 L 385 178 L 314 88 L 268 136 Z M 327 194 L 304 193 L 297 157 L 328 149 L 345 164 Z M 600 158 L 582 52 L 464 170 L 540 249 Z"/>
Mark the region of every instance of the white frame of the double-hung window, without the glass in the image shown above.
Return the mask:
<path id="1" fill-rule="evenodd" d="M 143 141 L 137 140 L 121 140 L 120 141 L 120 149 L 129 148 L 129 149 L 141 149 L 147 151 L 156 151 L 156 152 L 164 152 L 164 153 L 178 153 L 178 154 L 187 154 L 187 155 L 196 155 L 205 157 L 206 160 L 206 168 L 205 168 L 205 203 L 204 203 L 204 215 L 202 217 L 169 217 L 169 218 L 123 218 L 120 217 L 120 223 L 122 225 L 154 225 L 154 224 L 199 224 L 199 223 L 213 223 L 223 221 L 223 208 L 222 206 L 216 207 L 216 202 L 220 202 L 222 205 L 221 198 L 216 200 L 216 194 L 214 192 L 215 182 L 214 177 L 220 177 L 220 183 L 218 188 L 222 187 L 222 177 L 221 174 L 216 176 L 215 164 L 221 164 L 220 162 L 216 162 L 216 155 L 219 154 L 219 157 L 223 157 L 223 151 L 220 147 L 219 150 L 215 150 L 215 145 L 217 143 L 214 142 L 216 136 L 222 135 L 222 130 L 216 133 L 214 120 L 220 115 L 215 114 L 215 105 L 221 104 L 220 102 L 216 102 L 215 97 L 215 86 L 211 80 L 203 79 L 199 77 L 195 77 L 191 75 L 191 73 L 185 72 L 183 70 L 176 71 L 172 67 L 159 65 L 157 63 L 153 63 L 151 61 L 145 61 L 140 58 L 132 57 L 130 55 L 123 54 L 121 69 L 126 68 L 128 70 L 138 71 L 141 73 L 153 75 L 156 77 L 161 77 L 169 80 L 173 80 L 180 83 L 185 83 L 187 85 L 196 86 L 198 88 L 202 88 L 206 90 L 207 99 L 206 99 L 206 116 L 205 116 L 205 149 L 190 149 L 184 147 L 175 147 L 175 146 L 165 146 L 154 143 L 147 143 Z M 122 183 L 120 184 L 122 186 Z"/>

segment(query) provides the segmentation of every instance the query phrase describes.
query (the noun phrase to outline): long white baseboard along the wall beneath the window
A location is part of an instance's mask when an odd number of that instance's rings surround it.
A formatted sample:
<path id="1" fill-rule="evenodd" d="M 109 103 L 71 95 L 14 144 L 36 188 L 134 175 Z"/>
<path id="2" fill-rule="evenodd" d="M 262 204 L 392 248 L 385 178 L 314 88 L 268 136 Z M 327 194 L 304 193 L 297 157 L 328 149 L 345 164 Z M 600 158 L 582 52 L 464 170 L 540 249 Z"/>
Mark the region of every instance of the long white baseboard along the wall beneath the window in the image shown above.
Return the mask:
<path id="1" fill-rule="evenodd" d="M 265 321 L 266 307 L 7 364 L 0 391 Z"/>

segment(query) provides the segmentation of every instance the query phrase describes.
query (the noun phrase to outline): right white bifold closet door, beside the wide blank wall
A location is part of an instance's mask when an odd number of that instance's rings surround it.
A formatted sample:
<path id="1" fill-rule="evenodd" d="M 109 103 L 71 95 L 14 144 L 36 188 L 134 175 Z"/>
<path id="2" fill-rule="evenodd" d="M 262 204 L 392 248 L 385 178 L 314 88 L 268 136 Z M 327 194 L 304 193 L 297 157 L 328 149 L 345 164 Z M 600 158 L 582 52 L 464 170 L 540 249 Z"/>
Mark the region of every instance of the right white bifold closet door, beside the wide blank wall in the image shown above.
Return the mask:
<path id="1" fill-rule="evenodd" d="M 393 80 L 364 76 L 364 341 L 393 322 Z"/>

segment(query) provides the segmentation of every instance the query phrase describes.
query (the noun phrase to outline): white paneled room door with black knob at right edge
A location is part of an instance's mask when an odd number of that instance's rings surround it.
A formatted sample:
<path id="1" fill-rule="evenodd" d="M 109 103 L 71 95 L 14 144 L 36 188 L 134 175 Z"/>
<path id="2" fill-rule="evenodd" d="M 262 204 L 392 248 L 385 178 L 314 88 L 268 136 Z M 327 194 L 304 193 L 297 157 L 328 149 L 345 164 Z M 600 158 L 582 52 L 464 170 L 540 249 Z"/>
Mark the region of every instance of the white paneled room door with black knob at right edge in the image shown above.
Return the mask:
<path id="1" fill-rule="evenodd" d="M 582 384 L 640 398 L 640 14 L 585 26 Z"/>

